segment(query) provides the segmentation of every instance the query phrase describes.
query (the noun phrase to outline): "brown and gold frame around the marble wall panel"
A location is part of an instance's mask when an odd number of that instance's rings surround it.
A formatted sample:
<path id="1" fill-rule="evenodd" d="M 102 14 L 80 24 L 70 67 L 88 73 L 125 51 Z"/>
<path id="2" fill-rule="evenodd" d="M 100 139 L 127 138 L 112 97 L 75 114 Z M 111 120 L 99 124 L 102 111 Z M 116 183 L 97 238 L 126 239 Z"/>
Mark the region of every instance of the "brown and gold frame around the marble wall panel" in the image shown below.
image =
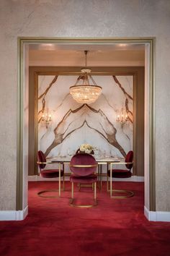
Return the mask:
<path id="1" fill-rule="evenodd" d="M 68 70 L 71 70 L 68 72 Z M 34 104 L 34 117 L 30 116 L 30 129 L 31 132 L 35 132 L 35 135 L 32 137 L 32 140 L 35 140 L 34 147 L 33 144 L 30 143 L 31 149 L 29 149 L 30 154 L 35 151 L 34 159 L 29 159 L 30 169 L 34 168 L 34 171 L 32 175 L 37 175 L 37 123 L 32 122 L 32 118 L 34 120 L 37 120 L 37 81 L 39 75 L 79 75 L 81 72 L 79 72 L 79 67 L 30 67 L 30 87 L 34 86 L 34 92 L 35 95 L 32 97 L 35 98 L 34 103 L 31 102 L 31 107 Z M 137 135 L 137 106 L 136 106 L 136 95 L 137 95 L 137 86 L 141 86 L 141 76 L 143 73 L 143 67 L 93 67 L 93 72 L 91 74 L 93 75 L 125 75 L 125 76 L 133 76 L 133 151 L 134 151 L 134 158 L 137 160 L 141 158 L 140 153 L 137 155 L 137 150 L 139 150 L 139 147 L 137 145 L 136 135 Z M 144 86 L 144 81 L 143 81 Z M 32 89 L 31 89 L 32 90 Z M 143 95 L 144 97 L 144 95 Z M 31 98 L 31 97 L 30 97 Z M 143 100 L 144 101 L 144 100 Z M 33 114 L 33 111 L 32 111 Z M 34 128 L 33 128 L 34 127 Z M 138 125 L 138 129 L 139 129 Z M 143 131 L 144 136 L 144 131 Z M 141 148 L 141 146 L 140 146 Z M 141 150 L 140 150 L 141 151 Z M 31 162 L 31 163 L 30 163 Z M 34 164 L 32 164 L 34 162 Z M 141 168 L 144 166 L 141 166 L 141 160 L 138 160 L 138 163 L 135 161 L 133 166 L 133 175 L 142 176 L 141 174 Z M 137 171 L 138 168 L 138 171 Z"/>

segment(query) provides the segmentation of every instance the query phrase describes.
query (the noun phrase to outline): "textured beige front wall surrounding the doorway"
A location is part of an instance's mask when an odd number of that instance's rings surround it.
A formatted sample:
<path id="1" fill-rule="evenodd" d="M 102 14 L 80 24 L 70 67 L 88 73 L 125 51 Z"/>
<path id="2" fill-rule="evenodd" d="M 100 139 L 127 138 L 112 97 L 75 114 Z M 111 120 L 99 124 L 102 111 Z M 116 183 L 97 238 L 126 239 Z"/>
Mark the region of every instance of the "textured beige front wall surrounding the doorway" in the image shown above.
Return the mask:
<path id="1" fill-rule="evenodd" d="M 88 4 L 87 4 L 88 2 Z M 14 210 L 17 37 L 156 37 L 156 210 L 170 211 L 170 1 L 1 0 L 1 210 Z"/>

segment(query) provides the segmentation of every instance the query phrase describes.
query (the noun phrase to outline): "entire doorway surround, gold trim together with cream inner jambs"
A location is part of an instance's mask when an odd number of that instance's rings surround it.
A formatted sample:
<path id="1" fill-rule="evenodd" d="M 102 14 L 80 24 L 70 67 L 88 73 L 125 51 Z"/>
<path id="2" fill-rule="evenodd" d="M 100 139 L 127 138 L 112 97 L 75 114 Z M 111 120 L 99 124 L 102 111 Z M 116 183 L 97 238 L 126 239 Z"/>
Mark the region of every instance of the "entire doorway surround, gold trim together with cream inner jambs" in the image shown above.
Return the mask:
<path id="1" fill-rule="evenodd" d="M 156 210 L 155 182 L 155 98 L 154 98 L 154 38 L 18 38 L 18 101 L 17 101 L 17 196 L 16 210 L 27 209 L 27 47 L 32 43 L 65 44 L 144 44 L 146 46 L 145 69 L 145 214 Z M 27 210 L 24 210 L 27 216 Z"/>

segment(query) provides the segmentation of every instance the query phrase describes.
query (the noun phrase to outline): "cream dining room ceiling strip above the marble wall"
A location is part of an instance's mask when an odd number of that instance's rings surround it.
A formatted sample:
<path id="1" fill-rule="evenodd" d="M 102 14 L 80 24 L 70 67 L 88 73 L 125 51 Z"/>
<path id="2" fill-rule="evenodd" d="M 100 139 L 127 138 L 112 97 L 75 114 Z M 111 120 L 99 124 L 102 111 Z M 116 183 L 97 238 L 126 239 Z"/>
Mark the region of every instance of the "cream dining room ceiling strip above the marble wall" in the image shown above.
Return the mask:
<path id="1" fill-rule="evenodd" d="M 115 44 L 64 44 L 42 43 L 29 45 L 30 66 L 58 67 L 143 67 L 145 45 L 133 43 Z"/>

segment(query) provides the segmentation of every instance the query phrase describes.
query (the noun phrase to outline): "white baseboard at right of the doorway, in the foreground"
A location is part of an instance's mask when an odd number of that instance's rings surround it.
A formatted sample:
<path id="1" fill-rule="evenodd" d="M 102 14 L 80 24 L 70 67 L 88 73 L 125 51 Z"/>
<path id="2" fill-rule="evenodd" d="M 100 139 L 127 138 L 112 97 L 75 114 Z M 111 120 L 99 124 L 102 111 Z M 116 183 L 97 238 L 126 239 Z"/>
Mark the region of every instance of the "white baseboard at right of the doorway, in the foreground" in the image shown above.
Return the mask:
<path id="1" fill-rule="evenodd" d="M 167 221 L 170 222 L 170 212 L 160 212 L 160 211 L 149 211 L 146 206 L 144 207 L 144 214 L 148 221 Z"/>

